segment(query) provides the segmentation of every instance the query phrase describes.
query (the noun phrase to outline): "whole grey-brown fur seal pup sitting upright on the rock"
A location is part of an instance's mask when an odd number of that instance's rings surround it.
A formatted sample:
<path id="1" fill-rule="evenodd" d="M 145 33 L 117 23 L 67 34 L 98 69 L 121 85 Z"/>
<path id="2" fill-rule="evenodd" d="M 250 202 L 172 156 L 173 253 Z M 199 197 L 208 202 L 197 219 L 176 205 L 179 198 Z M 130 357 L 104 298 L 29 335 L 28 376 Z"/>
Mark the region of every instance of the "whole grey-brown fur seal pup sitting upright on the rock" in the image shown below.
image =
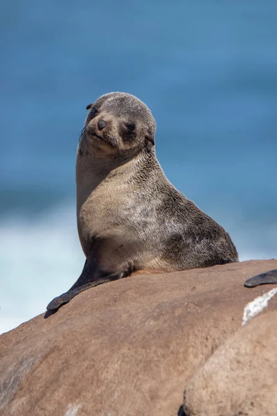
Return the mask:
<path id="1" fill-rule="evenodd" d="M 78 233 L 87 260 L 78 281 L 47 309 L 134 271 L 238 261 L 229 234 L 164 175 L 154 149 L 156 123 L 147 106 L 115 92 L 87 110 L 76 162 Z"/>

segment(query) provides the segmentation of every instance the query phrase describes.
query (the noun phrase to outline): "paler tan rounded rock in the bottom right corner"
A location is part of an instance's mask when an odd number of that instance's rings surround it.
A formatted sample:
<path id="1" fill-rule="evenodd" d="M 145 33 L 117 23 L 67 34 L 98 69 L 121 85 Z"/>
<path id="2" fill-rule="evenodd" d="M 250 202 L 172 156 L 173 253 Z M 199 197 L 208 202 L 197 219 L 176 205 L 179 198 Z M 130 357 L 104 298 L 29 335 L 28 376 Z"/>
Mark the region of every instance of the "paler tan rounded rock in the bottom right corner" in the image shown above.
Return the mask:
<path id="1" fill-rule="evenodd" d="M 188 383 L 185 415 L 276 416 L 276 345 L 277 310 L 239 329 Z"/>

